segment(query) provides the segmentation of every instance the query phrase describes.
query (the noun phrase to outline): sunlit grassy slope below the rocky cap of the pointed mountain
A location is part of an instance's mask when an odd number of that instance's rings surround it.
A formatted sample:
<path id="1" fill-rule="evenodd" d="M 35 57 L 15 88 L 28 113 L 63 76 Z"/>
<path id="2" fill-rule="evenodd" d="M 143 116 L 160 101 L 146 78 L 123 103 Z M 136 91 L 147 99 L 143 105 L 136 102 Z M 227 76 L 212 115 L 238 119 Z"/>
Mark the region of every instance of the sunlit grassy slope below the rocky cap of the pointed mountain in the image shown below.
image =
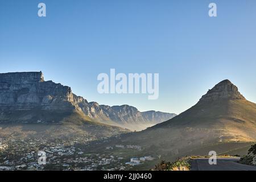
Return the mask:
<path id="1" fill-rule="evenodd" d="M 137 141 L 145 146 L 158 144 L 164 148 L 174 148 L 171 145 L 175 143 L 178 146 L 198 146 L 218 141 L 253 142 L 256 140 L 255 122 L 254 103 L 224 100 L 195 105 L 179 116 L 126 140 Z"/>

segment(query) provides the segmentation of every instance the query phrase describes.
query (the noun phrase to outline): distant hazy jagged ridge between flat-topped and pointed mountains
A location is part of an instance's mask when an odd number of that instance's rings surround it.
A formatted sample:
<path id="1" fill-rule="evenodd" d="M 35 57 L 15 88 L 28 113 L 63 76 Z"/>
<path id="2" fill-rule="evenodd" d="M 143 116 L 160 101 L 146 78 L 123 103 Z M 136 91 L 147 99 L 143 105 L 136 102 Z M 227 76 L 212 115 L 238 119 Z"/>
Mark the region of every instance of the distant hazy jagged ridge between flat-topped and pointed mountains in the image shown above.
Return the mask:
<path id="1" fill-rule="evenodd" d="M 147 127 L 156 125 L 176 116 L 173 113 L 163 113 L 160 111 L 141 112 L 137 108 L 129 105 L 107 106 L 98 105 L 97 102 L 90 102 L 90 111 L 85 111 L 89 117 L 97 119 L 102 123 L 114 126 L 125 127 L 129 130 L 144 130 Z M 84 107 L 82 107 L 84 108 Z M 88 107 L 85 107 L 86 109 Z"/>

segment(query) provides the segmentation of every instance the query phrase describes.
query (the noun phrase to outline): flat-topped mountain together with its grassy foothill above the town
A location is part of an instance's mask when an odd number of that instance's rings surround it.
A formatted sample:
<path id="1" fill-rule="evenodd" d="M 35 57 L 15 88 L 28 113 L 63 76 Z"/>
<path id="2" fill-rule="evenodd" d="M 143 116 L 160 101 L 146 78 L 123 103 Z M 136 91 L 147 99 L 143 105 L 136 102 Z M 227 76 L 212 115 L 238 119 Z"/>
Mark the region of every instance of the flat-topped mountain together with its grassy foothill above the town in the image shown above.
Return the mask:
<path id="1" fill-rule="evenodd" d="M 0 74 L 0 137 L 110 137 L 127 132 L 86 116 L 88 102 L 71 88 L 44 81 L 42 72 Z M 49 125 L 51 123 L 51 125 Z"/>

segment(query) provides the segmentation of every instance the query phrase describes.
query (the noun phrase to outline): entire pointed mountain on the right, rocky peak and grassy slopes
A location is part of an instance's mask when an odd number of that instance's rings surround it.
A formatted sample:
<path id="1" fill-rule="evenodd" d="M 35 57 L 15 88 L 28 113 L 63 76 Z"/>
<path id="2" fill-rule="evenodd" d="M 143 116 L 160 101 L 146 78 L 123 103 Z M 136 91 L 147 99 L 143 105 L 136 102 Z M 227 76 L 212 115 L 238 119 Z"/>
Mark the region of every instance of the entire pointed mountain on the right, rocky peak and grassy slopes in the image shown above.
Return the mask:
<path id="1" fill-rule="evenodd" d="M 255 141 L 256 104 L 224 80 L 190 109 L 144 131 L 125 134 L 117 143 L 138 144 L 147 154 L 171 160 L 212 150 L 238 152 Z"/>

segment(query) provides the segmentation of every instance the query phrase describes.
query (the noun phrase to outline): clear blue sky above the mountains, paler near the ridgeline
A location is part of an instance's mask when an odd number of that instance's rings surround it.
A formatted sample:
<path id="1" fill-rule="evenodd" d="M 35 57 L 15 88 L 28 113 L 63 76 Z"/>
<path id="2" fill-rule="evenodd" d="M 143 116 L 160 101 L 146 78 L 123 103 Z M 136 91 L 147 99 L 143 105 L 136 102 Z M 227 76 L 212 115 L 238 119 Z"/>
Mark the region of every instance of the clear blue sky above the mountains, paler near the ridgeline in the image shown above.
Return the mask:
<path id="1" fill-rule="evenodd" d="M 0 72 L 42 71 L 88 101 L 141 111 L 181 113 L 226 78 L 256 102 L 255 20 L 255 0 L 0 0 Z M 110 68 L 159 73 L 159 99 L 99 94 Z"/>

